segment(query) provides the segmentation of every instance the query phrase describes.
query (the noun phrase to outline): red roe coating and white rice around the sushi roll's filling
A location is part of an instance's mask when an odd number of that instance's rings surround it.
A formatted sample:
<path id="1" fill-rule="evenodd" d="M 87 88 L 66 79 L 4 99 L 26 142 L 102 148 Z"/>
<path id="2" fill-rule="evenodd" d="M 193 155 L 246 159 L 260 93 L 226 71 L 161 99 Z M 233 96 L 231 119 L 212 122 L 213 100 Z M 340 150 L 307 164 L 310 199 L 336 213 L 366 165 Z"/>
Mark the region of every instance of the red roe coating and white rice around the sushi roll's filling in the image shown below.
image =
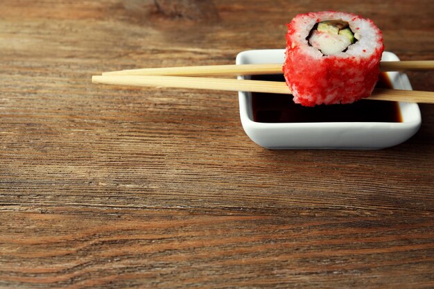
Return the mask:
<path id="1" fill-rule="evenodd" d="M 357 53 L 352 51 L 348 54 L 328 56 L 313 51 L 315 48 L 309 46 L 300 30 L 306 33 L 306 25 L 314 25 L 318 21 L 333 19 L 333 17 L 341 19 L 342 14 L 349 21 L 363 21 L 364 25 L 368 25 L 368 28 L 374 31 L 375 41 L 371 47 L 366 49 L 363 47 Z M 359 27 L 358 24 L 356 22 L 354 27 Z M 286 42 L 283 71 L 295 103 L 304 106 L 353 103 L 372 93 L 379 78 L 379 64 L 384 46 L 381 31 L 370 19 L 333 11 L 297 15 L 288 24 Z"/>

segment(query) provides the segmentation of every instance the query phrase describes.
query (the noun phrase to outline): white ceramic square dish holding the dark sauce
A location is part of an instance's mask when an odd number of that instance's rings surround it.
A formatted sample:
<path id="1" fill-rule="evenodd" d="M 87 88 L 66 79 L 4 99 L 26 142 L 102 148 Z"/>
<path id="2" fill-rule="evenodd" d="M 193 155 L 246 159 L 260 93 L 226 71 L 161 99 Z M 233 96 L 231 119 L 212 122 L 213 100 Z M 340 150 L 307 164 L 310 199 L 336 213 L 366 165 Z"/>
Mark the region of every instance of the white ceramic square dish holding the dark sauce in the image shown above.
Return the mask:
<path id="1" fill-rule="evenodd" d="M 382 61 L 397 61 L 394 53 L 384 52 Z M 236 64 L 284 62 L 284 49 L 243 51 Z M 404 73 L 388 72 L 394 89 L 411 90 Z M 238 78 L 250 78 L 239 76 Z M 396 146 L 419 130 L 422 123 L 417 103 L 399 103 L 402 122 L 315 122 L 259 123 L 254 121 L 252 95 L 238 92 L 241 123 L 245 133 L 259 146 L 268 149 L 358 149 L 373 150 Z M 379 101 L 379 100 L 372 100 Z"/>

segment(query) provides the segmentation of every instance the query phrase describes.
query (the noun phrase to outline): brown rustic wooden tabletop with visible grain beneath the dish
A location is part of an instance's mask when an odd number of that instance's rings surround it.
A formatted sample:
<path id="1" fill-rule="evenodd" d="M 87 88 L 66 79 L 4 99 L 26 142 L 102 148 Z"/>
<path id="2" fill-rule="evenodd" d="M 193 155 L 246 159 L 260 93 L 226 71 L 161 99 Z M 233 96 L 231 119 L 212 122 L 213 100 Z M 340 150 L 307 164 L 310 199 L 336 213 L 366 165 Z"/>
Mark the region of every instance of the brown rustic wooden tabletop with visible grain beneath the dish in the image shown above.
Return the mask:
<path id="1" fill-rule="evenodd" d="M 433 288 L 433 105 L 394 148 L 272 151 L 232 92 L 90 83 L 232 64 L 326 9 L 434 59 L 429 0 L 2 0 L 0 288 Z"/>

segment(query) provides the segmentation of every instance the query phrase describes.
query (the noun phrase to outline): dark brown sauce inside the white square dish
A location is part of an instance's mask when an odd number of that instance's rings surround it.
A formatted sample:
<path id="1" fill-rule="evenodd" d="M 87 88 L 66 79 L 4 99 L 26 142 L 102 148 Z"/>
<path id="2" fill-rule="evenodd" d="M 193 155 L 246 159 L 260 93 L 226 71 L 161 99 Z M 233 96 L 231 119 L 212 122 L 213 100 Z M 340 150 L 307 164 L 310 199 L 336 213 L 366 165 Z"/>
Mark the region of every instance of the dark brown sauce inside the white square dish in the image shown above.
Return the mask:
<path id="1" fill-rule="evenodd" d="M 283 75 L 252 76 L 254 80 L 285 81 Z M 392 88 L 381 73 L 376 87 Z M 402 122 L 399 105 L 394 101 L 359 100 L 349 105 L 317 105 L 303 107 L 286 94 L 252 93 L 253 120 L 259 123 L 323 123 L 323 122 Z"/>

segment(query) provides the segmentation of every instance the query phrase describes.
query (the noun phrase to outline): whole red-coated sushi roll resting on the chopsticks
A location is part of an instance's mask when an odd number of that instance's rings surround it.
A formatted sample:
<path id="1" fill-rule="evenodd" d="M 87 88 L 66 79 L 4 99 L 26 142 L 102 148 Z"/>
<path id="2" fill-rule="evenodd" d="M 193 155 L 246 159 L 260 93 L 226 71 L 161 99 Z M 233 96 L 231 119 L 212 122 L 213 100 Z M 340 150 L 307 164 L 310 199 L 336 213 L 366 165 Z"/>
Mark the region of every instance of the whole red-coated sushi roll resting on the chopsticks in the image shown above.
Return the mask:
<path id="1" fill-rule="evenodd" d="M 370 19 L 345 12 L 297 15 L 286 33 L 284 76 L 304 106 L 370 96 L 380 73 L 383 35 Z"/>

